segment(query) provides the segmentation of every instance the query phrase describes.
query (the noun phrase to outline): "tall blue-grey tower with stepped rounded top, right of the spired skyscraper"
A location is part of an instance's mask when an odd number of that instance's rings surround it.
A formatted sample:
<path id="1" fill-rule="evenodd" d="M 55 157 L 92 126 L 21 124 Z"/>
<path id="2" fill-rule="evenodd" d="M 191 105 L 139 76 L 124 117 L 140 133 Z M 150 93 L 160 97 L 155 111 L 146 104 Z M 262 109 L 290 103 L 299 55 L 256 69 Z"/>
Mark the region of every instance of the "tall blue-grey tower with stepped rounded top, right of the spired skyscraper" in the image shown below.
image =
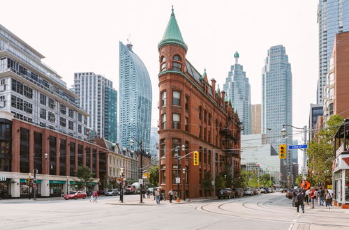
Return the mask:
<path id="1" fill-rule="evenodd" d="M 292 145 L 292 73 L 285 47 L 276 45 L 268 50 L 265 66 L 262 69 L 262 133 L 269 136 L 269 144 L 279 149 L 279 144 Z M 292 152 L 288 151 L 286 163 L 288 176 L 291 175 Z M 290 181 L 290 180 L 289 180 Z"/>

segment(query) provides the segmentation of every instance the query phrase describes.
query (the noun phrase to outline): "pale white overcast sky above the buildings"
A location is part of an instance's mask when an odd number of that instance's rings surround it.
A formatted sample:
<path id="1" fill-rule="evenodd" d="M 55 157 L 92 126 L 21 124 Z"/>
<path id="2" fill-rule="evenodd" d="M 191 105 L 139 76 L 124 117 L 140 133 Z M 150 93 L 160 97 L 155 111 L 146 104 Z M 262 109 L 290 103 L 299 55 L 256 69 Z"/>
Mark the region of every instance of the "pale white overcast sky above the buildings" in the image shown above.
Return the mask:
<path id="1" fill-rule="evenodd" d="M 223 89 L 239 52 L 251 84 L 252 103 L 261 102 L 267 50 L 285 46 L 292 69 L 292 125 L 309 121 L 318 79 L 317 1 L 3 1 L 0 23 L 46 56 L 43 62 L 70 86 L 74 72 L 95 72 L 119 91 L 119 41 L 129 38 L 147 66 L 153 88 L 152 127 L 158 121 L 158 42 L 171 6 L 188 45 L 186 58 Z M 7 9 L 7 10 L 6 10 Z M 295 136 L 302 143 L 302 135 Z"/>

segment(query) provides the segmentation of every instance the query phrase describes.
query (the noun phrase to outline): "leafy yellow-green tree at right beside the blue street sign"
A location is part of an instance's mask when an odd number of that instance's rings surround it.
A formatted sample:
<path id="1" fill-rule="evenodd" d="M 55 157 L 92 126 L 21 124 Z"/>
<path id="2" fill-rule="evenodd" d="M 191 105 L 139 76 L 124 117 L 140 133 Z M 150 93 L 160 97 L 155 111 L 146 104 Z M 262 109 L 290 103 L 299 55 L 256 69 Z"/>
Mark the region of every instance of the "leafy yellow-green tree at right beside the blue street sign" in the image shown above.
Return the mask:
<path id="1" fill-rule="evenodd" d="M 334 161 L 334 135 L 343 122 L 343 117 L 333 115 L 327 121 L 327 127 L 320 130 L 315 139 L 308 144 L 308 168 L 313 183 L 332 182 L 332 164 Z"/>

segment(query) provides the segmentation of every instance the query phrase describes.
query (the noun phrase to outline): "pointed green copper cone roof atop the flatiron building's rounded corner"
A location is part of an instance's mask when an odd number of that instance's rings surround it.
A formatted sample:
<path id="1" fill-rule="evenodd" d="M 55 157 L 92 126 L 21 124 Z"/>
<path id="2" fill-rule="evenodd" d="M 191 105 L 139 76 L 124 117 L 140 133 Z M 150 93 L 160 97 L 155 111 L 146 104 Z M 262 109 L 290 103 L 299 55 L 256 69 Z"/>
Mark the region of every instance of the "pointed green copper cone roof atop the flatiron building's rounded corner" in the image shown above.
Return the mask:
<path id="1" fill-rule="evenodd" d="M 168 22 L 168 27 L 166 28 L 166 31 L 163 34 L 163 40 L 161 40 L 161 42 L 158 43 L 158 49 L 168 44 L 180 45 L 184 49 L 188 49 L 186 43 L 184 43 L 184 40 L 181 36 L 181 31 L 179 30 L 176 17 L 174 16 L 173 6 L 170 21 Z"/>

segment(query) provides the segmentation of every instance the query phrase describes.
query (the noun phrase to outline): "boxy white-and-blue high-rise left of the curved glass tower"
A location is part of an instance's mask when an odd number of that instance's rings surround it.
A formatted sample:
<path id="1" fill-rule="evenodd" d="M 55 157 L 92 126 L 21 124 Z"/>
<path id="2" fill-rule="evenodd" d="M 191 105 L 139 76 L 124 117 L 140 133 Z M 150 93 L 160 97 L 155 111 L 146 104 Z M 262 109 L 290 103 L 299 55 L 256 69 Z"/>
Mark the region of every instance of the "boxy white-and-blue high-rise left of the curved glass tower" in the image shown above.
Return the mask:
<path id="1" fill-rule="evenodd" d="M 79 95 L 77 105 L 90 114 L 87 123 L 94 131 L 90 139 L 103 137 L 116 142 L 117 91 L 112 88 L 112 81 L 94 72 L 75 72 L 74 93 Z"/>

